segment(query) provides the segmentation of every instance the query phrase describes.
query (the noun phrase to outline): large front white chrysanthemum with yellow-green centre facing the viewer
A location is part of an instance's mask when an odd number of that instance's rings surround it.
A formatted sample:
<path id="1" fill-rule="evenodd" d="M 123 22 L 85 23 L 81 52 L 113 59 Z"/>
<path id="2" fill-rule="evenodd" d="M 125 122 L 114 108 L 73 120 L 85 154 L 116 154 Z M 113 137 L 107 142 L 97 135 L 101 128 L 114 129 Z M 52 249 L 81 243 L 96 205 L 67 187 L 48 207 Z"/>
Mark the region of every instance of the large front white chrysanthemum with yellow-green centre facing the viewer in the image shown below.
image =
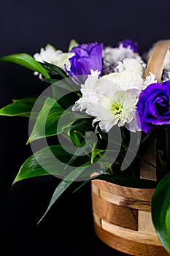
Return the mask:
<path id="1" fill-rule="evenodd" d="M 72 110 L 85 110 L 88 115 L 96 117 L 93 124 L 98 121 L 104 132 L 109 132 L 116 124 L 119 127 L 127 126 L 133 132 L 139 130 L 135 121 L 138 101 L 136 95 L 139 94 L 139 90 L 123 90 L 112 80 L 88 75 L 81 91 L 82 98 L 76 102 Z"/>

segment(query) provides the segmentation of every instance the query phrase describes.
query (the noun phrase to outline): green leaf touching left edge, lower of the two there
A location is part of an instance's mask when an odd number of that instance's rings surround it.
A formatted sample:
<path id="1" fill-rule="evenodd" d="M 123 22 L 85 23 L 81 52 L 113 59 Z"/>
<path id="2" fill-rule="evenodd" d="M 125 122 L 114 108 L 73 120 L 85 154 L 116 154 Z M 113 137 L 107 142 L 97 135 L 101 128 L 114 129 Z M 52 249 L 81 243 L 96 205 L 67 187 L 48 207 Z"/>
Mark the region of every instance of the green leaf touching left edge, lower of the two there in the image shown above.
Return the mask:
<path id="1" fill-rule="evenodd" d="M 36 98 L 13 99 L 13 103 L 0 109 L 1 116 L 29 117 Z"/>

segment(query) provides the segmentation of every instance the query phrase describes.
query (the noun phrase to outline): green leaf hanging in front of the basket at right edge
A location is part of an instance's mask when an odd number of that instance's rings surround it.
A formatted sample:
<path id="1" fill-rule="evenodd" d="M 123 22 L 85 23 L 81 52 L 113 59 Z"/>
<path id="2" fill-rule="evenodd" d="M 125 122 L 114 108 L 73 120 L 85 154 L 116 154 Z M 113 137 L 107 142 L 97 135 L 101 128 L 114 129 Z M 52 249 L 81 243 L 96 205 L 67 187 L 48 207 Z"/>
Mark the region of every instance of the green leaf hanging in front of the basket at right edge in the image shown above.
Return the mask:
<path id="1" fill-rule="evenodd" d="M 152 222 L 165 249 L 170 253 L 170 173 L 158 183 L 152 196 Z"/>

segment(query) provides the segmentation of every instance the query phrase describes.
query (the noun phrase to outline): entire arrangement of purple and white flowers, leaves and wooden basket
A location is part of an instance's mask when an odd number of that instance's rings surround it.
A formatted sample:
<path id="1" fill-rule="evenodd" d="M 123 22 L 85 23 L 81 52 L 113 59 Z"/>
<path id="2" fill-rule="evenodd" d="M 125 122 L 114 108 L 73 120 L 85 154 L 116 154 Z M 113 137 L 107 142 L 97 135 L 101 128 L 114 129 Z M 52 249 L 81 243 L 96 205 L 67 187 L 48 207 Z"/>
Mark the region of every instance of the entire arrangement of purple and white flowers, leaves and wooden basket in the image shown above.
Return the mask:
<path id="1" fill-rule="evenodd" d="M 136 218 L 142 214 L 146 218 L 152 200 L 152 223 L 161 242 L 152 230 L 156 251 L 143 250 L 143 255 L 170 252 L 169 47 L 169 40 L 159 41 L 142 57 L 130 39 L 116 46 L 97 42 L 79 45 L 72 40 L 67 52 L 47 45 L 34 57 L 18 53 L 0 59 L 31 69 L 47 84 L 39 97 L 14 99 L 0 109 L 1 116 L 29 118 L 27 144 L 33 155 L 20 167 L 13 184 L 36 176 L 60 178 L 48 211 L 73 181 L 81 181 L 77 189 L 93 181 L 93 214 L 99 223 L 96 233 L 110 246 L 135 255 L 136 250 L 116 245 L 125 239 L 131 244 L 134 231 L 125 223 L 122 227 L 118 223 L 114 231 L 117 220 L 111 221 L 110 216 L 102 220 L 98 214 L 109 202 L 109 206 L 116 205 L 112 209 L 125 206 L 121 211 L 125 210 L 126 221 L 130 218 L 127 208 Z M 116 211 L 109 215 L 116 216 Z M 102 221 L 105 233 L 98 231 Z M 124 240 L 110 242 L 113 236 L 106 231 L 118 236 L 123 227 Z M 139 227 L 139 231 L 139 240 L 144 237 L 142 244 L 147 244 L 147 249 L 154 247 L 147 227 Z"/>

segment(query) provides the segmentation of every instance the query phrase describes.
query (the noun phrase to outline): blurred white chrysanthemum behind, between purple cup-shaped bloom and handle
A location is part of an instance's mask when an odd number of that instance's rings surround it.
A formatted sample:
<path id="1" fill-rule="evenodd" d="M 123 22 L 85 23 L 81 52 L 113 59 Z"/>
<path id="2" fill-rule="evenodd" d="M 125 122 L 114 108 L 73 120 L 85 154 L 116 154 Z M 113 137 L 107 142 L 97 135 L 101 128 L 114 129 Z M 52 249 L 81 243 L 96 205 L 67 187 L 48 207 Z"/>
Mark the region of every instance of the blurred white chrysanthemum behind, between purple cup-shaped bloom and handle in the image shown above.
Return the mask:
<path id="1" fill-rule="evenodd" d="M 114 64 L 116 61 L 123 61 L 125 58 L 136 59 L 139 63 L 144 64 L 144 61 L 142 61 L 142 58 L 138 53 L 134 53 L 131 48 L 124 48 L 123 45 L 120 45 L 119 48 L 104 48 L 102 56 L 104 65 L 106 66 Z"/>

